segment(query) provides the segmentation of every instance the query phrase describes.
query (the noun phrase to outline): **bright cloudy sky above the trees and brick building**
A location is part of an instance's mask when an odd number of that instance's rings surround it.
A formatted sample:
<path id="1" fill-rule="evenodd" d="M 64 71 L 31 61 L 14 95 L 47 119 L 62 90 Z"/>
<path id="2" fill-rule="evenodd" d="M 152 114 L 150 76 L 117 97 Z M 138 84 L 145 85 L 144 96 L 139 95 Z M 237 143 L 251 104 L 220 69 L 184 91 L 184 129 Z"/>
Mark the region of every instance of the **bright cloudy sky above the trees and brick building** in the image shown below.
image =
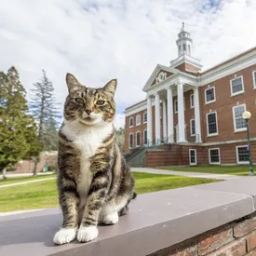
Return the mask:
<path id="1" fill-rule="evenodd" d="M 255 0 L 8 0 L 0 7 L 0 70 L 14 65 L 30 89 L 46 70 L 56 98 L 65 74 L 101 88 L 117 78 L 115 127 L 157 63 L 176 59 L 182 22 L 203 70 L 256 46 Z"/>

